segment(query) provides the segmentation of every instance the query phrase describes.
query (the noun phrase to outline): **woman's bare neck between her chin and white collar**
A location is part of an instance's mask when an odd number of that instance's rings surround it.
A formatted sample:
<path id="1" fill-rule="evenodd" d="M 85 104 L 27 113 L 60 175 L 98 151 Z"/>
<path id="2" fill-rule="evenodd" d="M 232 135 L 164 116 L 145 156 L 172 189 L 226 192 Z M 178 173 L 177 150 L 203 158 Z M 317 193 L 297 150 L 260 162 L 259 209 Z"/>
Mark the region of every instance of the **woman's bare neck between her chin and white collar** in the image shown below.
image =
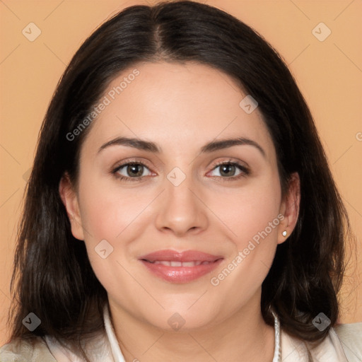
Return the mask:
<path id="1" fill-rule="evenodd" d="M 168 331 L 141 321 L 110 303 L 115 334 L 126 362 L 272 361 L 274 327 L 259 303 L 250 303 L 218 325 Z"/>

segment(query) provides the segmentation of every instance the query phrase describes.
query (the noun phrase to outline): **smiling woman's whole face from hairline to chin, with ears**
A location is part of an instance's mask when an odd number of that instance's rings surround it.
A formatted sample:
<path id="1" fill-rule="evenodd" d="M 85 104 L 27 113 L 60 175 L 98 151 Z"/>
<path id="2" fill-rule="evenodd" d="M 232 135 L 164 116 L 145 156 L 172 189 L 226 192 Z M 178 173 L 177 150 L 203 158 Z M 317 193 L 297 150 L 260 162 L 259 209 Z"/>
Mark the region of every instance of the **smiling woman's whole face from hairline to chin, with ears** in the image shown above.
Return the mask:
<path id="1" fill-rule="evenodd" d="M 259 308 L 298 203 L 281 198 L 271 136 L 246 95 L 192 63 L 137 64 L 110 83 L 78 188 L 59 190 L 113 310 L 163 329 L 178 313 L 192 329 Z"/>

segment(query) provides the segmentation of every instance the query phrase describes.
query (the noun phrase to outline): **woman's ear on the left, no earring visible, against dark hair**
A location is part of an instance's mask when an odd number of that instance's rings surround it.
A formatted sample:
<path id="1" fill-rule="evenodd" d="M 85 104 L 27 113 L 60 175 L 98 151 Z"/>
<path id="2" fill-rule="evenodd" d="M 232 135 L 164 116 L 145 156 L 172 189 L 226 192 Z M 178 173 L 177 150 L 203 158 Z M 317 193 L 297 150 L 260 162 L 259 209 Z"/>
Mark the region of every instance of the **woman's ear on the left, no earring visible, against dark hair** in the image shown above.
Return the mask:
<path id="1" fill-rule="evenodd" d="M 68 218 L 71 223 L 71 233 L 74 238 L 84 240 L 78 197 L 67 173 L 62 176 L 62 179 L 59 182 L 59 195 L 66 208 L 66 214 L 68 214 Z"/>

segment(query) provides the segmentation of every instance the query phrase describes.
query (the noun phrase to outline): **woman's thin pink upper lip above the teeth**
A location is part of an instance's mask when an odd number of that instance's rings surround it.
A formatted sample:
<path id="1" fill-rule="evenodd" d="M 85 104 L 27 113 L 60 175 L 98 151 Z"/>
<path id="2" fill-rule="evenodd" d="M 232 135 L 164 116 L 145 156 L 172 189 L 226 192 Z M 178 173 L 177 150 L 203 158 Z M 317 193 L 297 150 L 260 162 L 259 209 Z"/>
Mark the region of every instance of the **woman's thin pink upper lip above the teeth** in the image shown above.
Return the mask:
<path id="1" fill-rule="evenodd" d="M 186 250 L 184 252 L 158 250 L 139 257 L 140 260 L 147 260 L 148 262 L 156 262 L 157 260 L 165 262 L 215 262 L 222 258 L 221 255 L 211 255 L 197 250 Z"/>

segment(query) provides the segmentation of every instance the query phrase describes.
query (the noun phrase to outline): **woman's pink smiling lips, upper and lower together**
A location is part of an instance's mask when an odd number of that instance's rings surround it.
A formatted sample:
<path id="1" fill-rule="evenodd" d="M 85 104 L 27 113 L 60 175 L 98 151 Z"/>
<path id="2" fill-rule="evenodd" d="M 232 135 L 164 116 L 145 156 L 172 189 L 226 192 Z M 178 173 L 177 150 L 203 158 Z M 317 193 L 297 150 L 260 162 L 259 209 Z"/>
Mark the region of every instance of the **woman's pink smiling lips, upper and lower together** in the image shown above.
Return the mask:
<path id="1" fill-rule="evenodd" d="M 173 283 L 187 283 L 199 279 L 214 270 L 222 260 L 221 255 L 211 255 L 197 250 L 187 250 L 185 252 L 158 250 L 139 257 L 139 261 L 144 264 L 148 271 Z M 164 262 L 164 264 L 160 264 L 160 262 Z M 194 266 L 171 266 L 171 262 L 189 264 L 194 262 Z"/>

